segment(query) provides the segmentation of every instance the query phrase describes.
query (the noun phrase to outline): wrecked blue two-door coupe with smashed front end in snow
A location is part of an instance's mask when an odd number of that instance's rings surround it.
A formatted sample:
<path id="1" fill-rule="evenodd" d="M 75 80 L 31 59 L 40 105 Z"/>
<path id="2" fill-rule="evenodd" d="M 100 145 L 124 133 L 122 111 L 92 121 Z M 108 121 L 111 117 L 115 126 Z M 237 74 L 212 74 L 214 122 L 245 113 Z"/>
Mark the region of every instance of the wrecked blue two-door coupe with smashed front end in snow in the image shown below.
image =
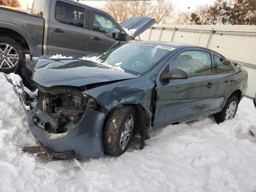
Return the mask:
<path id="1" fill-rule="evenodd" d="M 30 80 L 6 78 L 33 136 L 53 156 L 68 159 L 120 156 L 135 130 L 143 148 L 155 128 L 210 115 L 218 123 L 229 120 L 248 74 L 207 48 L 131 42 L 98 57 L 41 56 Z"/>

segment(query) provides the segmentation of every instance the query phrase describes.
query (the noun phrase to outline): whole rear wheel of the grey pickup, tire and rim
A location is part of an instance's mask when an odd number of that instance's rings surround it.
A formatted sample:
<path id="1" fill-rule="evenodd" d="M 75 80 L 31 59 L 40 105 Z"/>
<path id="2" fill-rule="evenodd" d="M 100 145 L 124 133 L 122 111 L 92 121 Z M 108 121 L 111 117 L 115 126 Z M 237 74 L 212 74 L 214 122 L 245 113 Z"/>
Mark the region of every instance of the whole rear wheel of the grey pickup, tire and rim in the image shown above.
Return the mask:
<path id="1" fill-rule="evenodd" d="M 0 37 L 0 72 L 12 73 L 19 63 L 25 61 L 20 44 L 8 37 Z"/>

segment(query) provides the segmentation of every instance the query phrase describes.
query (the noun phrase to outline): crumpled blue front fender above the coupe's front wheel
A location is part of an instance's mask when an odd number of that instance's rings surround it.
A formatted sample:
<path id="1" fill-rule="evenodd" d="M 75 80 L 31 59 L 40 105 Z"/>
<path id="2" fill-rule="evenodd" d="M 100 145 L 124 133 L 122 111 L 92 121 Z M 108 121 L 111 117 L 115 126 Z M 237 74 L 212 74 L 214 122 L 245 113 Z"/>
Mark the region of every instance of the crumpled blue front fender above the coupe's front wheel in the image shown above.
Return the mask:
<path id="1" fill-rule="evenodd" d="M 152 90 L 154 89 L 154 77 L 124 80 L 105 86 L 86 90 L 84 94 L 92 96 L 109 112 L 124 104 L 138 104 L 142 106 L 151 117 L 152 114 Z"/>

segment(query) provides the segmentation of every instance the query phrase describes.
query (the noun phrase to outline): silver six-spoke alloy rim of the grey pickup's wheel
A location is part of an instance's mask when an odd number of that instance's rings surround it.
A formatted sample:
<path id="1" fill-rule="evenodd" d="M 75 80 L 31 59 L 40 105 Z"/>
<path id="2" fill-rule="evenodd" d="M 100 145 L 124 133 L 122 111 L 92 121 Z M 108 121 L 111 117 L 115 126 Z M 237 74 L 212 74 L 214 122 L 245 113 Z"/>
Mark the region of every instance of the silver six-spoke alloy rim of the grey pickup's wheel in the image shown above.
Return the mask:
<path id="1" fill-rule="evenodd" d="M 14 67 L 19 61 L 18 52 L 8 44 L 0 44 L 0 68 Z"/>

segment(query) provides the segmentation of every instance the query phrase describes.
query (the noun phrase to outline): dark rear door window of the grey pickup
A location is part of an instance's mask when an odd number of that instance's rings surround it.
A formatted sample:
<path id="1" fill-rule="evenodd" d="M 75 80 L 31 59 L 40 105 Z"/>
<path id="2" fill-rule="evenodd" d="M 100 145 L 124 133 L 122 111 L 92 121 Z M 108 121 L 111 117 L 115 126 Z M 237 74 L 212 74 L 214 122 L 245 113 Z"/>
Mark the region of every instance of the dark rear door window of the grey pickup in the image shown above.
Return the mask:
<path id="1" fill-rule="evenodd" d="M 84 27 L 84 8 L 57 1 L 55 19 L 64 24 Z"/>

